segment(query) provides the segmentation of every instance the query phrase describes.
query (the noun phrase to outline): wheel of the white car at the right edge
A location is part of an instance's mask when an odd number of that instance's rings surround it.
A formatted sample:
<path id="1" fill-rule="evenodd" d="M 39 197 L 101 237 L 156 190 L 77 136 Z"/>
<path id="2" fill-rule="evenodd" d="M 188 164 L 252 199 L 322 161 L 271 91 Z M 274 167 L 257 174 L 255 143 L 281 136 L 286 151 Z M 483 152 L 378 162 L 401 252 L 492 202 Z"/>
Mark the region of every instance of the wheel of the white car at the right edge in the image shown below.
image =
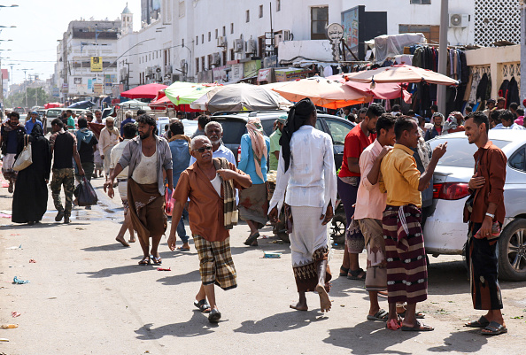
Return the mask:
<path id="1" fill-rule="evenodd" d="M 508 281 L 526 280 L 526 220 L 507 225 L 499 238 L 499 277 Z"/>

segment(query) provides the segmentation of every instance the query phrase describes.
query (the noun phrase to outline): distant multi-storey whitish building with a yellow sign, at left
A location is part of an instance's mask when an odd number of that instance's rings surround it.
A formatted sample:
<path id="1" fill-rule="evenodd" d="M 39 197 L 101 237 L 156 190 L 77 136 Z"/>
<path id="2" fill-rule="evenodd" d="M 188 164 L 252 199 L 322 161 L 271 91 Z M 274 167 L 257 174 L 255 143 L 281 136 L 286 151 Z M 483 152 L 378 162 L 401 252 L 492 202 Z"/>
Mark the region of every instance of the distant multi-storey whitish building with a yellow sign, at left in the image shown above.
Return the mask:
<path id="1" fill-rule="evenodd" d="M 119 81 L 116 59 L 121 30 L 120 20 L 71 21 L 58 41 L 53 92 L 63 100 L 111 93 Z M 102 66 L 97 58 L 102 58 Z"/>

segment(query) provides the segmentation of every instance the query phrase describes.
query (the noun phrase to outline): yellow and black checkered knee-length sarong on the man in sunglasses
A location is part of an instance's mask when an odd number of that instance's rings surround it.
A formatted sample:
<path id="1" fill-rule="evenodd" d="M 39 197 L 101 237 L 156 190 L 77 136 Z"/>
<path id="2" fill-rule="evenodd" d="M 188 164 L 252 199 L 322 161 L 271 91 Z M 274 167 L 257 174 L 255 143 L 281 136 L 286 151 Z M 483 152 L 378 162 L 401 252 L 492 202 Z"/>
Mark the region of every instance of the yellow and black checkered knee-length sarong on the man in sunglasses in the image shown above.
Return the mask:
<path id="1" fill-rule="evenodd" d="M 199 274 L 204 285 L 215 283 L 221 289 L 237 287 L 236 267 L 230 252 L 230 238 L 223 242 L 208 242 L 200 235 L 194 235 Z"/>

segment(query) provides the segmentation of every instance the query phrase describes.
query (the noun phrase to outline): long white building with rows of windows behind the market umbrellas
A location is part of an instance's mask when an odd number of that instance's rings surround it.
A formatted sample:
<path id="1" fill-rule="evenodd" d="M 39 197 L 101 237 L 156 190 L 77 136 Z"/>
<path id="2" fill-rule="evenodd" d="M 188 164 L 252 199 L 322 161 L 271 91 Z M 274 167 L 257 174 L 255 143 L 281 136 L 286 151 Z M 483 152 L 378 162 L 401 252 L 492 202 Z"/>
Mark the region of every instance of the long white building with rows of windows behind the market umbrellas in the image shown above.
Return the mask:
<path id="1" fill-rule="evenodd" d="M 380 22 L 352 18 L 349 10 L 359 5 L 365 6 L 362 15 Z M 296 57 L 330 61 L 325 26 L 333 22 L 355 26 L 359 45 L 375 31 L 423 33 L 437 43 L 440 25 L 438 0 L 144 0 L 143 6 L 150 6 L 143 8 L 143 18 L 155 16 L 119 41 L 120 55 L 129 50 L 119 60 L 120 81 L 129 87 L 151 81 L 238 81 L 257 75 L 261 66 Z M 449 44 L 520 41 L 514 0 L 450 0 L 449 13 Z"/>

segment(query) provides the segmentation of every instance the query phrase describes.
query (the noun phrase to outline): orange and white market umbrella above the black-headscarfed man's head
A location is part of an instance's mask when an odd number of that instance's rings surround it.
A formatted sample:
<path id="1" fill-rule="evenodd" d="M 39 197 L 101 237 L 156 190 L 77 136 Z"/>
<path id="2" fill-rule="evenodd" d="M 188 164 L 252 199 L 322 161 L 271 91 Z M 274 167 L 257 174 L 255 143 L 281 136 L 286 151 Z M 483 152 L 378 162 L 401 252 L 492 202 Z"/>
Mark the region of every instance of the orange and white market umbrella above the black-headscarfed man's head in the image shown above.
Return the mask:
<path id="1" fill-rule="evenodd" d="M 298 102 L 308 97 L 316 106 L 338 109 L 352 104 L 363 104 L 371 101 L 370 94 L 352 89 L 338 81 L 329 81 L 321 77 L 284 82 L 271 86 L 275 92 L 287 100 Z"/>

